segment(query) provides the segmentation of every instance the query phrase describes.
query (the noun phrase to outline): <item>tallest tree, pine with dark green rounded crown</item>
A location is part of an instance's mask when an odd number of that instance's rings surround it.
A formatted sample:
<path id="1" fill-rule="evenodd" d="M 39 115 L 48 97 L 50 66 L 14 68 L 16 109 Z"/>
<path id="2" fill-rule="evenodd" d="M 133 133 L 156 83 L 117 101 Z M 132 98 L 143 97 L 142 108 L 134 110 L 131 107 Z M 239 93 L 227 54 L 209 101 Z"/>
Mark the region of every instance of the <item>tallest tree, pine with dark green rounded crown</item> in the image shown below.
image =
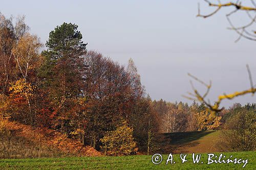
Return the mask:
<path id="1" fill-rule="evenodd" d="M 47 51 L 42 52 L 44 64 L 39 72 L 43 80 L 42 86 L 49 91 L 49 98 L 58 119 L 55 127 L 61 131 L 70 131 L 70 108 L 82 96 L 81 86 L 84 84 L 83 71 L 86 45 L 78 26 L 64 22 L 49 34 L 46 42 Z M 74 101 L 75 100 L 75 101 Z"/>

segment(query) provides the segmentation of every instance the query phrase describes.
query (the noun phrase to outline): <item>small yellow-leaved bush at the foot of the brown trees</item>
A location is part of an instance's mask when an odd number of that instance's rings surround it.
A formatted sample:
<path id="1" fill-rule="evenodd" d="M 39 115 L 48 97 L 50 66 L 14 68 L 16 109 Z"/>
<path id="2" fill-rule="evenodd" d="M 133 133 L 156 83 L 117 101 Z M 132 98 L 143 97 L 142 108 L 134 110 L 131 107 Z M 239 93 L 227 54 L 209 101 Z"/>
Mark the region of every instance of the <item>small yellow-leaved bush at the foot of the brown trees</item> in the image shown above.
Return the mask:
<path id="1" fill-rule="evenodd" d="M 133 129 L 126 124 L 115 131 L 106 132 L 100 141 L 105 155 L 131 155 L 138 150 L 133 138 Z"/>

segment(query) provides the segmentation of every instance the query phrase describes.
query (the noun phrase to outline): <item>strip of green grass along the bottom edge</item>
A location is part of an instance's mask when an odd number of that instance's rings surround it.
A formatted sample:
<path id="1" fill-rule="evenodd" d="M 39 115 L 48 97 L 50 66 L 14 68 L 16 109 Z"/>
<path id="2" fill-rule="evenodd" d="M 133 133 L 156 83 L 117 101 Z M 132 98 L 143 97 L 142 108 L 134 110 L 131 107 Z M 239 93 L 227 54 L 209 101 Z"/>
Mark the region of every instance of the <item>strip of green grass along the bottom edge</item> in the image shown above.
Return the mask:
<path id="1" fill-rule="evenodd" d="M 219 155 L 219 153 L 216 153 Z M 256 152 L 224 153 L 226 159 L 248 159 L 244 169 L 256 169 Z M 187 162 L 181 163 L 180 156 L 174 155 L 175 164 L 166 165 L 168 155 L 163 155 L 163 161 L 156 165 L 151 161 L 152 156 L 122 156 L 122 157 L 66 157 L 66 158 L 37 158 L 37 159 L 0 159 L 0 169 L 241 169 L 241 164 L 212 163 L 207 165 L 207 154 L 202 154 L 199 164 L 193 164 L 191 154 Z M 203 164 L 201 164 L 203 161 Z"/>

